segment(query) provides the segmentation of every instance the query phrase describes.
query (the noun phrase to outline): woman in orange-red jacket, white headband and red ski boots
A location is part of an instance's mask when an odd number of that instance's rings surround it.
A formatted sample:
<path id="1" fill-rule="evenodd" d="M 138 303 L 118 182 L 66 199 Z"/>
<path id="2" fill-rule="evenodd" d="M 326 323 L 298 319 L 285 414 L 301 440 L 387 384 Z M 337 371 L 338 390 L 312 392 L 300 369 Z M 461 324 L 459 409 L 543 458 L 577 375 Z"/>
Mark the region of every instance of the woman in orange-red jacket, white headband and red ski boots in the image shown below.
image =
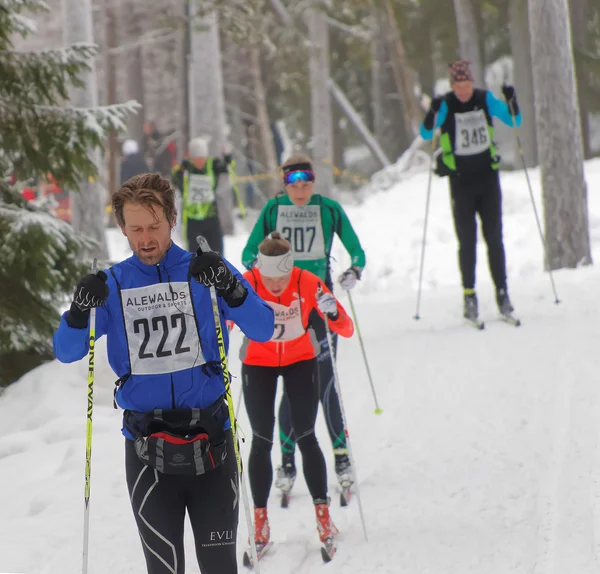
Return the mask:
<path id="1" fill-rule="evenodd" d="M 315 505 L 319 537 L 331 556 L 337 529 L 329 516 L 327 468 L 315 435 L 320 346 L 309 327 L 309 316 L 316 313 L 342 337 L 351 337 L 354 325 L 321 279 L 294 266 L 291 246 L 278 232 L 261 242 L 256 265 L 244 273 L 244 278 L 275 311 L 271 340 L 245 341 L 240 352 L 244 400 L 252 427 L 248 472 L 255 507 L 255 541 L 262 550 L 270 540 L 267 500 L 273 481 L 275 395 L 281 376 L 304 477 Z"/>

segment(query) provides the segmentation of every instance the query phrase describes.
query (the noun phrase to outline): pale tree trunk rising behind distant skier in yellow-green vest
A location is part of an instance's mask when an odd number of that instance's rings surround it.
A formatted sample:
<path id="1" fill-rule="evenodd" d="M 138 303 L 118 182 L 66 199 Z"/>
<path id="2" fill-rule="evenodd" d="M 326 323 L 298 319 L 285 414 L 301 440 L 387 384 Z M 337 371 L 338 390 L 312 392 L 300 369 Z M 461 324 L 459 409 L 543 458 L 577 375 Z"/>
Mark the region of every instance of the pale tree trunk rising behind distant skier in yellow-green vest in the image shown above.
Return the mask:
<path id="1" fill-rule="evenodd" d="M 221 38 L 218 16 L 207 14 L 194 25 L 192 39 L 192 78 L 194 123 L 192 137 L 210 140 L 210 154 L 222 157 L 225 150 L 225 91 L 221 67 Z M 219 177 L 218 204 L 221 227 L 225 234 L 233 233 L 233 194 L 228 177 Z"/>

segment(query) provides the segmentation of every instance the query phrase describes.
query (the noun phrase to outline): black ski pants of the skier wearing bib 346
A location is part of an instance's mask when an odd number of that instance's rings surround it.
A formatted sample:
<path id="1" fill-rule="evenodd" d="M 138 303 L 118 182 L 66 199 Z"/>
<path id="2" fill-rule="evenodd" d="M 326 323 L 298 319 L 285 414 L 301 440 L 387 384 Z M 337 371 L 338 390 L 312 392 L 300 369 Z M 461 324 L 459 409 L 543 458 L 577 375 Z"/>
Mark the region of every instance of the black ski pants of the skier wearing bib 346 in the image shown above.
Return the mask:
<path id="1" fill-rule="evenodd" d="M 490 170 L 477 175 L 450 176 L 454 227 L 463 288 L 475 288 L 477 219 L 488 248 L 488 263 L 496 289 L 506 289 L 506 256 L 502 239 L 500 176 Z"/>

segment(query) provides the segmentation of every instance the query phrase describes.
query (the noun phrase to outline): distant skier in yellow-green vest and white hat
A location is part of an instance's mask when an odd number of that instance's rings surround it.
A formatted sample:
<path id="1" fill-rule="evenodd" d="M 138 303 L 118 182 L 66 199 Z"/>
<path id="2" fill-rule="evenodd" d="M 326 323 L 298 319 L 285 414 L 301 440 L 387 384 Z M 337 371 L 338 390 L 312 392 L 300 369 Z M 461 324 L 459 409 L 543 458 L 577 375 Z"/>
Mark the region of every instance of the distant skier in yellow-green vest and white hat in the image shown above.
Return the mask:
<path id="1" fill-rule="evenodd" d="M 173 185 L 182 195 L 181 220 L 187 249 L 196 252 L 196 237 L 203 235 L 213 251 L 223 254 L 223 231 L 217 208 L 219 174 L 228 173 L 231 156 L 209 157 L 204 138 L 190 140 L 189 157 L 173 167 Z"/>

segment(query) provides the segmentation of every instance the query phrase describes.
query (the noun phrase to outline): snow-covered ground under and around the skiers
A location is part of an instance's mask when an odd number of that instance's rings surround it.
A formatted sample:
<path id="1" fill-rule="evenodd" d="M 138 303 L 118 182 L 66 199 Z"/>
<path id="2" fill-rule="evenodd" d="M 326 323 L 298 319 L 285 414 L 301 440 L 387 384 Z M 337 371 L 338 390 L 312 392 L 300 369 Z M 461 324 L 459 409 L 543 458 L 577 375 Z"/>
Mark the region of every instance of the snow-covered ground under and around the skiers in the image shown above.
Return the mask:
<path id="1" fill-rule="evenodd" d="M 600 258 L 600 161 L 586 165 L 594 255 Z M 600 565 L 600 270 L 555 274 L 554 304 L 522 173 L 503 175 L 510 290 L 520 329 L 495 319 L 479 251 L 486 330 L 461 320 L 456 241 L 446 182 L 434 180 L 421 321 L 413 320 L 427 175 L 368 199 L 349 215 L 367 250 L 357 289 L 383 414 L 373 414 L 358 341 L 339 369 L 369 541 L 357 500 L 332 515 L 338 554 L 323 566 L 301 477 L 290 508 L 270 500 L 272 554 L 263 573 L 592 574 Z M 539 174 L 532 173 L 539 201 Z M 245 237 L 229 238 L 239 263 Z M 126 244 L 111 234 L 115 257 Z M 348 264 L 335 247 L 336 273 Z M 342 297 L 342 300 L 344 298 Z M 239 333 L 234 334 L 231 368 Z M 143 574 L 123 472 L 114 375 L 98 344 L 90 574 Z M 85 361 L 44 365 L 0 398 L 0 572 L 80 572 L 86 410 Z M 239 390 L 234 379 L 234 395 Z M 246 434 L 245 413 L 240 415 Z M 319 437 L 330 466 L 324 423 Z M 248 443 L 244 446 L 247 455 Z M 274 461 L 279 461 L 278 453 Z M 240 517 L 239 552 L 247 537 Z M 198 572 L 188 533 L 188 572 Z M 243 567 L 240 566 L 240 571 Z"/>

